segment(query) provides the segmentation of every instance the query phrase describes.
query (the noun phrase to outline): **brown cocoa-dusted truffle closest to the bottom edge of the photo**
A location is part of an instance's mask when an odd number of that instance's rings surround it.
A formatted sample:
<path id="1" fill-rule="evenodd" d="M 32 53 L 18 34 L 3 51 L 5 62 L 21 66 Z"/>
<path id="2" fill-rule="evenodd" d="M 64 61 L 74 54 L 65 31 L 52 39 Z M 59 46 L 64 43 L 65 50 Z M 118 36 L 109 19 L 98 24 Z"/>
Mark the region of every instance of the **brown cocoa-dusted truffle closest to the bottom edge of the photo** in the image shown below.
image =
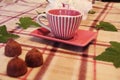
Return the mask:
<path id="1" fill-rule="evenodd" d="M 8 62 L 7 65 L 7 75 L 11 77 L 19 77 L 24 75 L 27 72 L 26 63 L 18 58 L 14 57 Z"/>

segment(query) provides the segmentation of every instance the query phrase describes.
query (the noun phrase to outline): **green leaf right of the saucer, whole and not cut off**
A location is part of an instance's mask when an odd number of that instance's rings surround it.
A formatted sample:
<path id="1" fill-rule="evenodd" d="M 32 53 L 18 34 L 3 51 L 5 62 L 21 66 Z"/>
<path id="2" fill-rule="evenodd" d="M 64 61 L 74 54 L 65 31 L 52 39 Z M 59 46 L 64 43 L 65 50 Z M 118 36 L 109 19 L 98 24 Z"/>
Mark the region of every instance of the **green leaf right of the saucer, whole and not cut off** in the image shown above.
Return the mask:
<path id="1" fill-rule="evenodd" d="M 95 28 L 105 31 L 117 31 L 117 28 L 113 24 L 104 21 L 101 21 L 99 24 L 97 24 Z"/>

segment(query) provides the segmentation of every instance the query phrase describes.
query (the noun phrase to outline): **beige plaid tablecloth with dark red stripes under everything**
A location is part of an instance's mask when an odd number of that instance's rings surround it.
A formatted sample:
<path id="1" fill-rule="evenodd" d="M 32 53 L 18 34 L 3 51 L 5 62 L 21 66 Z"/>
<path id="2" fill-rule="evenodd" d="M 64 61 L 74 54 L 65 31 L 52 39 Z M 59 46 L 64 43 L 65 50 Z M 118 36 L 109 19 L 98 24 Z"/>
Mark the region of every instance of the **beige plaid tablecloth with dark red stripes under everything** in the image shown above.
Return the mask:
<path id="1" fill-rule="evenodd" d="M 20 17 L 36 19 L 36 11 L 44 12 L 46 5 L 47 2 L 42 0 L 18 0 L 0 6 L 0 25 L 6 25 L 8 31 L 20 35 L 15 39 L 22 45 L 19 57 L 25 60 L 26 53 L 36 47 L 44 58 L 42 66 L 28 67 L 24 76 L 9 77 L 6 67 L 12 58 L 4 55 L 5 44 L 0 43 L 0 80 L 120 80 L 119 68 L 116 69 L 112 63 L 93 60 L 110 45 L 109 41 L 120 42 L 120 3 L 96 1 L 93 4 L 96 13 L 88 14 L 79 28 L 96 31 L 96 24 L 106 21 L 114 24 L 118 32 L 99 30 L 95 41 L 85 47 L 33 37 L 30 32 L 37 28 L 22 29 L 16 25 Z"/>

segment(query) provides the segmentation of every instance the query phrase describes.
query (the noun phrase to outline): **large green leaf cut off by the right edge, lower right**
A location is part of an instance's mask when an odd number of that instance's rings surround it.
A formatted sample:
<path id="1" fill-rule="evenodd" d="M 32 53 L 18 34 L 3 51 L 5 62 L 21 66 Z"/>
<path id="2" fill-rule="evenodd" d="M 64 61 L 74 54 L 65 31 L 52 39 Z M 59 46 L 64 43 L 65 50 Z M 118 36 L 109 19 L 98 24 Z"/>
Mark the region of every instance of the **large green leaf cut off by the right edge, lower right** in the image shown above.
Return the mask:
<path id="1" fill-rule="evenodd" d="M 106 48 L 104 52 L 96 56 L 95 60 L 112 62 L 116 68 L 120 68 L 120 43 L 111 41 L 110 47 Z"/>

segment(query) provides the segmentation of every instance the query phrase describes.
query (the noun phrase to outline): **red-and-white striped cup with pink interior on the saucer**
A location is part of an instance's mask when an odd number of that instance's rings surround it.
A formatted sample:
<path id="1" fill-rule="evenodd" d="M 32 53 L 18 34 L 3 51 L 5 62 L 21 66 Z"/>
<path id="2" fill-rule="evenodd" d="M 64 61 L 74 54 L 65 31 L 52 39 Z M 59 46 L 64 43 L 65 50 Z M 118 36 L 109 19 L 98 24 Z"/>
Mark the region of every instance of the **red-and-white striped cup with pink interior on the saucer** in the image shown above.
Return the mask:
<path id="1" fill-rule="evenodd" d="M 48 20 L 48 25 L 45 25 L 41 18 Z M 48 29 L 56 38 L 71 39 L 74 37 L 76 31 L 82 20 L 82 14 L 76 10 L 70 9 L 52 9 L 46 14 L 39 14 L 37 22 Z"/>

